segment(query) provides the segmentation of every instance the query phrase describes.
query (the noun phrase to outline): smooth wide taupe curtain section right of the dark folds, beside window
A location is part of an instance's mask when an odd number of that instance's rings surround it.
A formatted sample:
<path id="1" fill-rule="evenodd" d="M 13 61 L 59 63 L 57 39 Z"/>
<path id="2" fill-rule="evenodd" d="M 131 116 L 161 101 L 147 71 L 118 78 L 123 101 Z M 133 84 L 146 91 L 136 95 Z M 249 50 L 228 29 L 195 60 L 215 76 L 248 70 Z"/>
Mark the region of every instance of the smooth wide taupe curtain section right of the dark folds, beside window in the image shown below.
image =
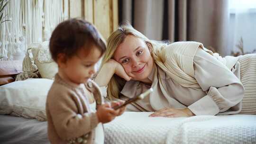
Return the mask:
<path id="1" fill-rule="evenodd" d="M 212 46 L 219 54 L 229 55 L 228 0 L 189 0 L 188 40 Z"/>

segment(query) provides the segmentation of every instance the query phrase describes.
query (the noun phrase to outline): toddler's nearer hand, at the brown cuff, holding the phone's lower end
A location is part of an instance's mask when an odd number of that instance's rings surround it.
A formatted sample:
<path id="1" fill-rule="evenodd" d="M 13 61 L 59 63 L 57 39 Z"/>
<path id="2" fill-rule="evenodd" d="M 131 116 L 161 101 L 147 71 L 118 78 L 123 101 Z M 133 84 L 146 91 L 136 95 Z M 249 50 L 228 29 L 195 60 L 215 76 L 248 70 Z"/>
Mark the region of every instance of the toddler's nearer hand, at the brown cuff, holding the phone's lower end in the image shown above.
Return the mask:
<path id="1" fill-rule="evenodd" d="M 109 103 L 105 103 L 98 107 L 96 114 L 98 116 L 99 122 L 104 124 L 112 121 L 119 114 L 119 111 L 111 108 Z"/>

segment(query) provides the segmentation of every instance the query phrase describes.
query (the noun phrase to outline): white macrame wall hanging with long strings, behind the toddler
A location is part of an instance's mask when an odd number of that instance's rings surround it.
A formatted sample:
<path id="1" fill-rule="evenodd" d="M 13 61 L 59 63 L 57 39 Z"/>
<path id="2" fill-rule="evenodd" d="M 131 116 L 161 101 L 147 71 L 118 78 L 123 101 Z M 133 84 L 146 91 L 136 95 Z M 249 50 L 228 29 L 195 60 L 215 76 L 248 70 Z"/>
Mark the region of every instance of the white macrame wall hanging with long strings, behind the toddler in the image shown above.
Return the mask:
<path id="1" fill-rule="evenodd" d="M 28 45 L 49 40 L 69 17 L 68 0 L 9 0 L 3 15 L 11 21 L 0 25 L 0 60 L 23 60 Z"/>

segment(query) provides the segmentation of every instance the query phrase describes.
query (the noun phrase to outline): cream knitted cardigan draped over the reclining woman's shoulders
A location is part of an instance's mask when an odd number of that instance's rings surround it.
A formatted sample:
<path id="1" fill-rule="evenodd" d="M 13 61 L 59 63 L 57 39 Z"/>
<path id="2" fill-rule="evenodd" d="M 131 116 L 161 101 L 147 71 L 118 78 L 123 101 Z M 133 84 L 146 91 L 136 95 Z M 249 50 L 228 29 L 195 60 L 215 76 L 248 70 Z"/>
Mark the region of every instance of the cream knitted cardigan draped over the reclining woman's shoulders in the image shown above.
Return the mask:
<path id="1" fill-rule="evenodd" d="M 237 63 L 239 57 L 226 56 L 222 58 L 219 54 L 213 54 L 210 50 L 203 47 L 198 42 L 175 42 L 166 46 L 161 54 L 164 62 L 156 62 L 156 64 L 166 72 L 174 81 L 180 83 L 184 87 L 200 88 L 194 78 L 193 58 L 198 48 L 216 57 L 223 65 L 224 69 L 229 69 Z M 226 66 L 225 66 L 226 65 Z"/>

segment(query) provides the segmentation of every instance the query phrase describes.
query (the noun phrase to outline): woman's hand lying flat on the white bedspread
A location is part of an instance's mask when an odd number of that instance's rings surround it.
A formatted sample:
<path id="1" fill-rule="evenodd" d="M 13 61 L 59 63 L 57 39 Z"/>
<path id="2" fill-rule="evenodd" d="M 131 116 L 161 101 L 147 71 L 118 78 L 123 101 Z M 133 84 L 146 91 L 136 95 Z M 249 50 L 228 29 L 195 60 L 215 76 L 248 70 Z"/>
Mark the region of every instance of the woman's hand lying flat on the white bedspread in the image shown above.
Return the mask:
<path id="1" fill-rule="evenodd" d="M 163 108 L 149 115 L 149 117 L 191 117 L 191 116 L 194 116 L 194 114 L 189 108 L 185 108 L 185 109 Z"/>

